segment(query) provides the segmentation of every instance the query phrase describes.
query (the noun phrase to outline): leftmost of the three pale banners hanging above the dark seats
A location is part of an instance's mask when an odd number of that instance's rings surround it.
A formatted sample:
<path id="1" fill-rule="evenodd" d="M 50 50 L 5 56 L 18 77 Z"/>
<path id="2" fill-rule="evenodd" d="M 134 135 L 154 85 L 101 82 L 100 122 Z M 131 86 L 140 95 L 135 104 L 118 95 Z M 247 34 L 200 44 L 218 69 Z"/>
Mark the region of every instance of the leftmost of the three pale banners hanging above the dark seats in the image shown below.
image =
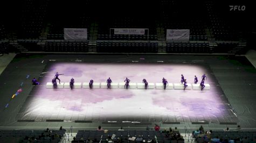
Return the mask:
<path id="1" fill-rule="evenodd" d="M 64 28 L 65 40 L 87 40 L 86 28 Z"/>

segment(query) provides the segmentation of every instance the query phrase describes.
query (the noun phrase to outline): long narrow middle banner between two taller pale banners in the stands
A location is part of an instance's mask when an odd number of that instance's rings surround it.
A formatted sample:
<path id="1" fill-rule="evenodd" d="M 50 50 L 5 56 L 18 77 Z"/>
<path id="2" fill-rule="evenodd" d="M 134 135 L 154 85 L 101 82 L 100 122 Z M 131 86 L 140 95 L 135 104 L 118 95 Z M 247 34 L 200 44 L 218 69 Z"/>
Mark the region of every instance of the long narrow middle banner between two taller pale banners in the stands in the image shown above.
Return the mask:
<path id="1" fill-rule="evenodd" d="M 146 29 L 139 28 L 114 28 L 114 34 L 144 35 Z"/>

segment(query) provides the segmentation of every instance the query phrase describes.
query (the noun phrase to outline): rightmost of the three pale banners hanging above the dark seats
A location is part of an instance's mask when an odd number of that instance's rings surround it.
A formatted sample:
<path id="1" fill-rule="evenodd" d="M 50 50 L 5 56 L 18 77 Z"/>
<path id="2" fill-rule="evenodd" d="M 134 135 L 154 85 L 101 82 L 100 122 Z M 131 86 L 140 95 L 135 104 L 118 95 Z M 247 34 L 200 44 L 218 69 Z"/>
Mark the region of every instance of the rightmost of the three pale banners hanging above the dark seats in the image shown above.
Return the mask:
<path id="1" fill-rule="evenodd" d="M 166 40 L 189 40 L 189 29 L 167 29 Z"/>

